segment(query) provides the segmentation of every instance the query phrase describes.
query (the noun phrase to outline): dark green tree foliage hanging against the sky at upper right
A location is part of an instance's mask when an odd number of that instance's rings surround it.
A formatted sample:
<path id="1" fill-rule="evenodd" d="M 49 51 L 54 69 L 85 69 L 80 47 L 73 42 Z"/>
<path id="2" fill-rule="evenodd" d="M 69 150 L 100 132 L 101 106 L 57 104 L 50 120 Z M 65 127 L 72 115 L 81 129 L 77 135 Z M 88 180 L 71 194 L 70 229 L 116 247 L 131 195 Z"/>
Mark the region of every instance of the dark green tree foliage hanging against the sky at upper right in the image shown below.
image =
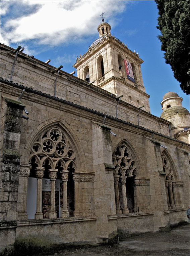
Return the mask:
<path id="1" fill-rule="evenodd" d="M 165 51 L 164 58 L 170 64 L 181 89 L 190 94 L 190 1 L 155 0 L 159 10 L 158 36 Z"/>

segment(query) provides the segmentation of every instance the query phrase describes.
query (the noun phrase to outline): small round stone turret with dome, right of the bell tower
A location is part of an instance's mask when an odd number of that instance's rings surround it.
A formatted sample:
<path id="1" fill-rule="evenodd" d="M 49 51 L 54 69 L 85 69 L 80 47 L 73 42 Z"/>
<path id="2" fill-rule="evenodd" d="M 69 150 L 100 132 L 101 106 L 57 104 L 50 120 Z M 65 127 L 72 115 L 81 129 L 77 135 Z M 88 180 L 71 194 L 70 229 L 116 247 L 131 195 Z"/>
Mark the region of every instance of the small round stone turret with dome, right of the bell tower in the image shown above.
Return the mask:
<path id="1" fill-rule="evenodd" d="M 171 134 L 176 139 L 189 143 L 189 111 L 182 106 L 183 98 L 176 92 L 167 92 L 161 101 L 161 117 L 170 121 Z"/>

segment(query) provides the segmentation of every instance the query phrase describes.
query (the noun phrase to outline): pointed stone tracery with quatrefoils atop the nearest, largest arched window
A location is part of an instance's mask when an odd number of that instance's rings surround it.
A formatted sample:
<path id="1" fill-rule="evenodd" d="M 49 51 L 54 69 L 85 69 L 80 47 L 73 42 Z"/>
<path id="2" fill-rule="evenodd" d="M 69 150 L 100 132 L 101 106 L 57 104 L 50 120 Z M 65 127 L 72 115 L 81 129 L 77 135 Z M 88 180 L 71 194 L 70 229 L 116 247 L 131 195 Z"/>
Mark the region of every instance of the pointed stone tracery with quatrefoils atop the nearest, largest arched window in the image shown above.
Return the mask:
<path id="1" fill-rule="evenodd" d="M 30 162 L 31 159 L 35 159 L 38 167 L 45 165 L 47 159 L 51 169 L 55 169 L 58 162 L 61 162 L 63 170 L 67 170 L 71 162 L 75 167 L 75 153 L 58 127 L 51 128 L 38 137 L 31 148 Z"/>

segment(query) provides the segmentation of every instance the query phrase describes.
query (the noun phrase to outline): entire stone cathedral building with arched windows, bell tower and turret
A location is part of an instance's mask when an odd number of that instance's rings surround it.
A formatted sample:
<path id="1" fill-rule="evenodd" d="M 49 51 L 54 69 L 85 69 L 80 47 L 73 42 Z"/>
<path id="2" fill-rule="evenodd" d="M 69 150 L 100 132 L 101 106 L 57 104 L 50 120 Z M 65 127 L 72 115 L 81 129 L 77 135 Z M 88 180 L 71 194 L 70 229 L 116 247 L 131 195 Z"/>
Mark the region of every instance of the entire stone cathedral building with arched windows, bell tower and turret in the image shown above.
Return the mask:
<path id="1" fill-rule="evenodd" d="M 150 113 L 143 60 L 111 35 L 73 67 L 1 44 L 1 252 L 118 243 L 187 221 L 189 112 Z"/>

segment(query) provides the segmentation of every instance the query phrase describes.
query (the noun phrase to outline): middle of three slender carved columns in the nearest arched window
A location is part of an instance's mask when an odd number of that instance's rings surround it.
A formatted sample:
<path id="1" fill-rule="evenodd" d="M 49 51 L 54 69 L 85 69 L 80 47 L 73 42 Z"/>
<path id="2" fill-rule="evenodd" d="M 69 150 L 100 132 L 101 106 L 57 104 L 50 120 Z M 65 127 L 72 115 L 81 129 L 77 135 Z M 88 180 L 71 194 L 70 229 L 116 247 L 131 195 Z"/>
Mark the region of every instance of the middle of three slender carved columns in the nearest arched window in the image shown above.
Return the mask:
<path id="1" fill-rule="evenodd" d="M 51 210 L 49 212 L 49 218 L 57 218 L 57 214 L 55 211 L 55 180 L 57 178 L 57 169 L 49 170 L 49 176 L 51 180 Z"/>

